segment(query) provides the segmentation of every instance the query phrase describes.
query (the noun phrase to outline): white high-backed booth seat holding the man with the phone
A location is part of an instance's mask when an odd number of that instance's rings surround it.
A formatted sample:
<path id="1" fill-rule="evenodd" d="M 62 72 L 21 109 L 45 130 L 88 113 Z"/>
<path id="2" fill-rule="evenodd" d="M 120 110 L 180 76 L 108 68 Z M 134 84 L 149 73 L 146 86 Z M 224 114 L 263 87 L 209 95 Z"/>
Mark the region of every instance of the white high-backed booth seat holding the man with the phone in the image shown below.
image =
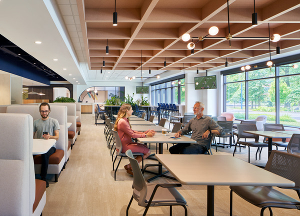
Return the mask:
<path id="1" fill-rule="evenodd" d="M 59 123 L 59 138 L 56 141 L 56 151 L 49 157 L 48 174 L 54 174 L 55 182 L 58 180 L 58 175 L 65 163 L 67 156 L 67 126 L 66 126 L 66 106 L 51 105 L 50 117 L 58 120 Z M 40 118 L 38 105 L 12 105 L 7 106 L 7 113 L 28 113 L 33 117 L 33 120 Z M 33 126 L 33 124 L 32 124 Z M 33 136 L 33 133 L 32 133 Z M 35 173 L 40 173 L 41 156 L 34 155 L 34 169 Z"/>

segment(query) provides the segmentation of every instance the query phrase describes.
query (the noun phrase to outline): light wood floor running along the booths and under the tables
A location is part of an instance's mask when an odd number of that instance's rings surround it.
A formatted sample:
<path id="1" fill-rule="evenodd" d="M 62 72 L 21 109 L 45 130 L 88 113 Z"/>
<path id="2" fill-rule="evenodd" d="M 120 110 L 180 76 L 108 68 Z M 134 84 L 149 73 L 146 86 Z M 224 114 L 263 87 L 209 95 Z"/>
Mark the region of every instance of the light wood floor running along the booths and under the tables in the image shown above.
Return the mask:
<path id="1" fill-rule="evenodd" d="M 126 207 L 132 195 L 132 176 L 123 168 L 128 159 L 121 161 L 116 178 L 113 180 L 112 162 L 106 140 L 103 134 L 104 125 L 95 125 L 93 114 L 81 114 L 81 132 L 73 146 L 66 168 L 61 172 L 58 182 L 51 179 L 50 186 L 46 189 L 46 205 L 43 216 L 47 215 L 125 215 Z M 168 126 L 168 122 L 166 123 Z M 154 145 L 151 151 L 154 153 Z M 233 148 L 219 148 L 213 154 L 230 154 Z M 164 153 L 168 153 L 164 146 Z M 251 162 L 265 164 L 266 150 L 262 152 L 262 159 L 255 161 L 255 150 L 251 149 Z M 247 161 L 247 149 L 242 148 L 236 157 Z M 153 160 L 146 160 L 146 163 Z M 205 164 L 203 164 L 205 166 Z M 211 170 L 213 171 L 213 170 Z M 195 172 L 201 172 L 201 167 Z M 205 173 L 203 173 L 205 174 Z M 152 175 L 145 174 L 148 178 Z M 159 178 L 152 183 L 174 182 L 169 179 Z M 206 215 L 206 186 L 182 185 L 178 190 L 188 203 L 188 215 Z M 295 191 L 282 190 L 285 194 L 296 199 Z M 214 193 L 215 215 L 229 215 L 229 187 L 215 186 Z M 129 215 L 142 215 L 144 208 L 133 200 Z M 260 208 L 233 195 L 233 215 L 259 215 Z M 150 207 L 147 215 L 169 215 L 168 207 Z M 173 215 L 184 215 L 181 206 L 173 207 Z M 265 215 L 269 215 L 265 210 Z M 295 209 L 273 209 L 273 215 L 300 215 Z"/>

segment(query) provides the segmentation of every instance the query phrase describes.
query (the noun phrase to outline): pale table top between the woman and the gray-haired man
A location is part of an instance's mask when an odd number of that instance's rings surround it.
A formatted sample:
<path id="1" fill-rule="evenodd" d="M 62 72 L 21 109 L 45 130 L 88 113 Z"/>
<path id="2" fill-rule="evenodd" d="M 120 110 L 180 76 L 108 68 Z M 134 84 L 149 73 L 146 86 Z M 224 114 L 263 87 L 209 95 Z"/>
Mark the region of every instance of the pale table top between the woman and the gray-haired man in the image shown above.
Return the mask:
<path id="1" fill-rule="evenodd" d="M 196 143 L 195 140 L 184 135 L 179 139 L 169 138 L 174 136 L 174 134 L 175 133 L 166 133 L 166 135 L 163 135 L 161 132 L 157 132 L 153 137 L 137 138 L 137 140 L 144 143 Z"/>

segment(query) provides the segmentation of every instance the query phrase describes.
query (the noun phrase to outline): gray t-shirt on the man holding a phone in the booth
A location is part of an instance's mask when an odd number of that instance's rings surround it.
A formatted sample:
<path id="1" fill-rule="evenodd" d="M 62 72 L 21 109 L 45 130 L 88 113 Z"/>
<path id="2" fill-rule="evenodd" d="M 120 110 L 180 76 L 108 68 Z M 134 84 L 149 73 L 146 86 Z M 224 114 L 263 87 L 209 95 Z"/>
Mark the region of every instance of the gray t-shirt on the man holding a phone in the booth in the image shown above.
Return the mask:
<path id="1" fill-rule="evenodd" d="M 49 117 L 47 120 L 41 118 L 33 121 L 33 132 L 36 132 L 36 138 L 42 138 L 42 132 L 47 131 L 49 135 L 54 135 L 54 130 L 58 130 L 59 123 L 55 118 Z M 53 144 L 55 147 L 55 143 Z"/>

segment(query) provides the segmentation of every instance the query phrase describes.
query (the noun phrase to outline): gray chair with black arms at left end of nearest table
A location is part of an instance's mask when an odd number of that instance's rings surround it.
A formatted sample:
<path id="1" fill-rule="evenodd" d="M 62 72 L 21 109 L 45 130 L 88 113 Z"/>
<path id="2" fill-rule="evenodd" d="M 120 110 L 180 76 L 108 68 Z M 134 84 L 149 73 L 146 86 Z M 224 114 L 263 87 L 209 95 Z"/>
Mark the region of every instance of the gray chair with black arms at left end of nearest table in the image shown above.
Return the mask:
<path id="1" fill-rule="evenodd" d="M 160 183 L 148 184 L 140 170 L 138 162 L 134 159 L 130 149 L 126 151 L 130 165 L 133 171 L 133 194 L 126 208 L 128 216 L 129 207 L 133 198 L 139 206 L 145 207 L 143 215 L 146 215 L 150 206 L 170 206 L 170 215 L 172 215 L 172 206 L 181 205 L 184 208 L 184 215 L 187 216 L 186 201 L 175 187 L 180 187 L 180 183 Z"/>

